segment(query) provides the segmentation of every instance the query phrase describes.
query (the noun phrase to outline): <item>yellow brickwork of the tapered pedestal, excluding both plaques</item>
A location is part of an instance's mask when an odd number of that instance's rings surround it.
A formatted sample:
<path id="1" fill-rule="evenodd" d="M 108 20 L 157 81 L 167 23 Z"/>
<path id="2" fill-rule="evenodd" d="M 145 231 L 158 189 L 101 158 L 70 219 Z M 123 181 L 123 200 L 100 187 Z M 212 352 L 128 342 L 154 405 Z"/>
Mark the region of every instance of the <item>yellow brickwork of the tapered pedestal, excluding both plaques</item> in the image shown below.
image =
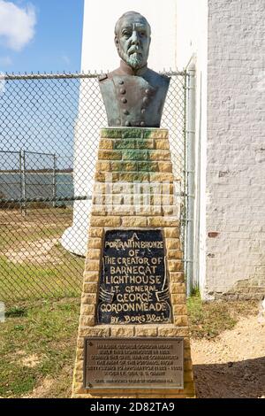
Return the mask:
<path id="1" fill-rule="evenodd" d="M 194 397 L 178 209 L 174 201 L 168 131 L 106 128 L 101 131 L 81 298 L 72 397 Z M 96 325 L 95 307 L 104 230 L 163 230 L 170 279 L 170 324 Z M 183 337 L 184 389 L 84 389 L 84 338 Z"/>

